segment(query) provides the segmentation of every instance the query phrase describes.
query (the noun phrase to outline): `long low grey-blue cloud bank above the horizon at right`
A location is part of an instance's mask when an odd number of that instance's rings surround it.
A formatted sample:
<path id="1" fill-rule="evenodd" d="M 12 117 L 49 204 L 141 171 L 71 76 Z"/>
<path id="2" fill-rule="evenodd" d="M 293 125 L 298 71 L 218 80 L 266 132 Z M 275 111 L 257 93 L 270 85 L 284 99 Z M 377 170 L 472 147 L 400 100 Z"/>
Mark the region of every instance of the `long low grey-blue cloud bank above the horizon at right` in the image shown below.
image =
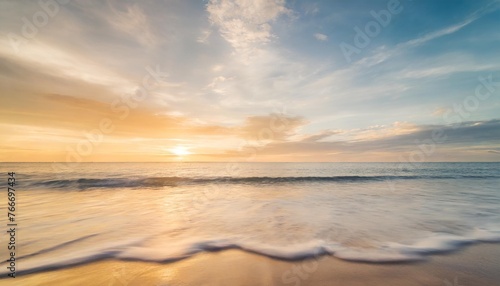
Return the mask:
<path id="1" fill-rule="evenodd" d="M 393 126 L 398 126 L 394 124 Z M 406 124 L 405 124 L 406 125 Z M 393 129 L 394 127 L 387 127 Z M 413 127 L 411 127 L 413 126 Z M 376 127 L 384 129 L 384 127 Z M 482 147 L 498 146 L 500 144 L 500 120 L 470 121 L 460 125 L 413 125 L 402 127 L 406 130 L 399 132 L 383 132 L 384 136 L 365 137 L 363 140 L 353 139 L 359 130 L 342 132 L 351 134 L 351 138 L 336 138 L 334 141 L 319 141 L 325 138 L 321 134 L 311 135 L 302 140 L 271 142 L 260 152 L 262 160 L 287 156 L 288 158 L 300 157 L 301 160 L 317 161 L 341 160 L 392 160 L 398 161 L 399 156 L 408 156 L 411 152 L 420 152 L 421 144 L 429 144 L 432 138 L 440 138 L 433 148 L 433 152 L 425 156 L 426 161 L 450 160 L 453 158 L 466 158 L 472 156 L 476 160 L 490 160 Z M 335 133 L 333 131 L 333 134 Z M 436 136 L 436 132 L 440 132 Z M 328 135 L 326 131 L 324 135 Z M 433 135 L 434 134 L 434 135 Z M 491 149 L 488 149 L 491 150 Z M 307 159 L 304 157 L 309 157 Z"/>

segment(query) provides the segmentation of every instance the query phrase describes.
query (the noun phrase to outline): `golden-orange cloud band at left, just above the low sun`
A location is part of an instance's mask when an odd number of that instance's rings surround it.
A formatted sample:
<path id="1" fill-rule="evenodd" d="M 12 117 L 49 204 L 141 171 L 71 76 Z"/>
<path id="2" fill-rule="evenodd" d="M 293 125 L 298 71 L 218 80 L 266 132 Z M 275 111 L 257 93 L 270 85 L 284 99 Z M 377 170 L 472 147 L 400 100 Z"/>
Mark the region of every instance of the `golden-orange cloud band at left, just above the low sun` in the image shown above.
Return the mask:
<path id="1" fill-rule="evenodd" d="M 67 131 L 88 131 L 99 127 L 103 118 L 115 125 L 113 137 L 172 138 L 183 136 L 228 136 L 228 127 L 200 122 L 195 118 L 172 114 L 164 109 L 127 108 L 125 103 L 111 104 L 63 94 L 46 94 L 34 99 L 38 108 L 11 109 L 6 117 L 22 116 L 19 124 Z M 125 112 L 124 110 L 128 111 Z M 3 112 L 2 112 L 3 113 Z M 0 122 L 6 118 L 0 116 Z"/>

